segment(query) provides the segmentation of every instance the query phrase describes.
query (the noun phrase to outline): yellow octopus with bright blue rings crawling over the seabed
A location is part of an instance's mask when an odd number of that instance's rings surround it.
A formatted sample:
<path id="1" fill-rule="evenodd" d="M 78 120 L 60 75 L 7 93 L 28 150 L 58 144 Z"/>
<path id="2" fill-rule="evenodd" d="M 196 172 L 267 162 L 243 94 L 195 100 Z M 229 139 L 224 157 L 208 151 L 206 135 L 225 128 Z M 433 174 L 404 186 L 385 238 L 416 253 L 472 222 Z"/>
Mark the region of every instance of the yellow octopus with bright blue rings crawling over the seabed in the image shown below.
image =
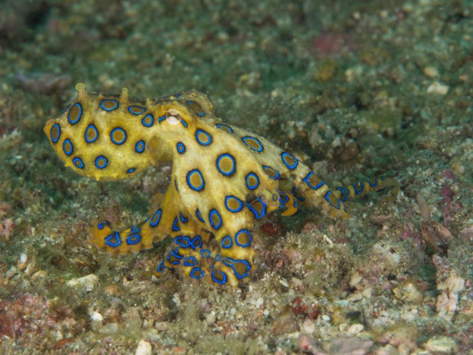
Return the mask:
<path id="1" fill-rule="evenodd" d="M 174 237 L 158 273 L 178 268 L 195 279 L 238 284 L 253 262 L 251 228 L 256 219 L 297 201 L 330 217 L 347 218 L 343 201 L 393 187 L 393 179 L 332 191 L 296 157 L 235 126 L 220 123 L 209 98 L 196 90 L 145 102 L 90 94 L 77 84 L 77 99 L 44 132 L 67 167 L 96 180 L 130 178 L 151 164 L 172 162 L 171 183 L 154 212 L 116 232 L 103 221 L 90 227 L 89 242 L 112 254 L 150 249 Z M 296 193 L 297 189 L 297 194 Z"/>

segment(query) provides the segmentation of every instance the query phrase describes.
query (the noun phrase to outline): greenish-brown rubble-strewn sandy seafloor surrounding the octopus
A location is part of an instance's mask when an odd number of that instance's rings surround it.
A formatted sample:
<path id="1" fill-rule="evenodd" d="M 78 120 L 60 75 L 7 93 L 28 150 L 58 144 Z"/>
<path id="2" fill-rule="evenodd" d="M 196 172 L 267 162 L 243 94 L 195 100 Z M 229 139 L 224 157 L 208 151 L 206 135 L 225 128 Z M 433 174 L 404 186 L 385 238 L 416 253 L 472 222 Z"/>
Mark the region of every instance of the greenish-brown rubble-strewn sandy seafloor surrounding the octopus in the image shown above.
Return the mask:
<path id="1" fill-rule="evenodd" d="M 6 0 L 0 45 L 1 354 L 473 354 L 471 1 Z M 238 288 L 156 280 L 169 241 L 112 257 L 87 227 L 139 221 L 170 169 L 66 169 L 42 127 L 77 82 L 195 88 L 331 186 L 401 190 L 265 217 Z"/>

